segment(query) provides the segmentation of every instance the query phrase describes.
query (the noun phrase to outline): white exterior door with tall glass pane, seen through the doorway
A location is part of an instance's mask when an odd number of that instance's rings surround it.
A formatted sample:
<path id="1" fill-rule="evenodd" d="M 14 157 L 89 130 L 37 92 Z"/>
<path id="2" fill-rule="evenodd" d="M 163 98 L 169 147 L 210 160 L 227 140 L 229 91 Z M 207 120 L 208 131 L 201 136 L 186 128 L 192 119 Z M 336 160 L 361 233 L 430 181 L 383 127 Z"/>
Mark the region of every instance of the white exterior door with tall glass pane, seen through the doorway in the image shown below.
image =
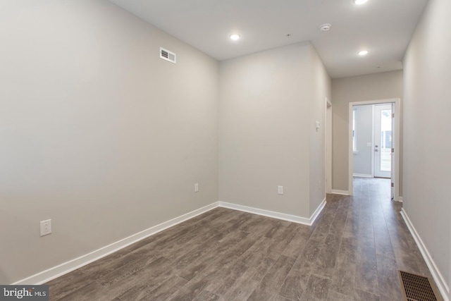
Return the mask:
<path id="1" fill-rule="evenodd" d="M 391 178 L 392 172 L 392 105 L 374 106 L 374 176 Z"/>

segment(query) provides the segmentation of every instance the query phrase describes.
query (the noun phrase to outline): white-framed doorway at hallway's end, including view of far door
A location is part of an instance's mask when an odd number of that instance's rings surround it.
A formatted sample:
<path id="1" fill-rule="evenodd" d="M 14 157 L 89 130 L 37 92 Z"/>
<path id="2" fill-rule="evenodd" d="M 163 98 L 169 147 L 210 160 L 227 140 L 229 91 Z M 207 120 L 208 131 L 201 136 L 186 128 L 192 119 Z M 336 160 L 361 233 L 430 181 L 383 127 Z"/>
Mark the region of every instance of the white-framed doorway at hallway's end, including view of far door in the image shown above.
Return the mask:
<path id="1" fill-rule="evenodd" d="M 369 105 L 369 106 L 367 106 Z M 369 118 L 371 126 L 362 130 L 355 128 L 356 111 L 369 109 Z M 368 178 L 391 178 L 391 198 L 399 200 L 399 152 L 397 147 L 400 145 L 400 122 L 397 118 L 399 112 L 400 99 L 383 99 L 369 102 L 351 102 L 349 107 L 349 172 L 348 172 L 348 190 L 353 195 L 353 176 L 363 176 Z M 374 123 L 374 126 L 373 126 Z M 366 132 L 366 133 L 365 133 Z M 358 145 L 357 137 L 360 135 L 369 135 L 364 140 L 364 145 Z M 354 173 L 354 157 L 360 159 L 366 156 L 366 165 L 359 173 Z M 370 158 L 370 159 L 368 159 Z M 370 161 L 368 161 L 370 160 Z M 358 161 L 355 162 L 359 164 Z"/>

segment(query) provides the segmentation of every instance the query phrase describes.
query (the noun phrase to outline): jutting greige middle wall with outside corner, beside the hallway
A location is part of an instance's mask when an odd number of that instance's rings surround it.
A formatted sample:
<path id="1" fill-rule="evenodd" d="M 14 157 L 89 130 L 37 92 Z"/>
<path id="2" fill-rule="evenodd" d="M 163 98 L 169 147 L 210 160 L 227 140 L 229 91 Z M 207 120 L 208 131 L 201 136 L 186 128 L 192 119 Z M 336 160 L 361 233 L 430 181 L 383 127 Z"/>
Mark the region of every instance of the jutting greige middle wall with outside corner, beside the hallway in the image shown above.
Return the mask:
<path id="1" fill-rule="evenodd" d="M 325 196 L 315 121 L 330 90 L 316 51 L 299 43 L 221 61 L 220 82 L 220 200 L 309 218 Z"/>

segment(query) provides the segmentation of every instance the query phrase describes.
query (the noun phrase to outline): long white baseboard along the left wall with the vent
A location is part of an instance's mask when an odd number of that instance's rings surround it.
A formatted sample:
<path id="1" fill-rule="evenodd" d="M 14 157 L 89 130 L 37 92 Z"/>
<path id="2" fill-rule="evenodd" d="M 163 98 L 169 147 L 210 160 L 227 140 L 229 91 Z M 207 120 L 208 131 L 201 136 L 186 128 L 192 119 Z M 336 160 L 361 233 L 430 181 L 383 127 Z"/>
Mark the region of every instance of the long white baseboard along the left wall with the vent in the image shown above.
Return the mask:
<path id="1" fill-rule="evenodd" d="M 141 231 L 139 233 L 135 233 L 130 235 L 128 238 L 123 238 L 122 240 L 118 240 L 117 242 L 113 242 L 111 245 L 107 245 L 105 247 L 101 247 L 98 250 L 90 252 L 88 254 L 82 255 L 78 258 L 72 259 L 68 262 L 64 262 L 63 264 L 59 264 L 58 266 L 54 266 L 50 269 L 42 271 L 38 274 L 32 275 L 16 283 L 12 283 L 13 285 L 39 285 L 42 283 L 46 283 L 51 281 L 54 278 L 58 278 L 59 276 L 63 276 L 64 274 L 68 274 L 71 271 L 75 271 L 76 269 L 80 269 L 80 267 L 90 264 L 102 257 L 105 257 L 113 252 L 123 249 L 124 247 L 128 247 L 135 242 L 143 240 L 144 238 L 148 238 L 156 233 L 159 233 L 167 228 L 171 228 L 172 226 L 177 225 L 178 223 L 183 223 L 183 221 L 187 221 L 188 219 L 192 219 L 194 216 L 198 216 L 199 214 L 203 214 L 206 211 L 210 211 L 218 207 L 218 202 L 213 204 L 209 204 L 208 206 L 199 208 L 197 210 L 191 211 L 187 214 L 183 214 L 181 216 L 176 217 L 175 219 L 171 219 L 170 221 L 165 221 L 164 223 L 160 223 L 159 225 L 148 228 L 147 230 Z"/>

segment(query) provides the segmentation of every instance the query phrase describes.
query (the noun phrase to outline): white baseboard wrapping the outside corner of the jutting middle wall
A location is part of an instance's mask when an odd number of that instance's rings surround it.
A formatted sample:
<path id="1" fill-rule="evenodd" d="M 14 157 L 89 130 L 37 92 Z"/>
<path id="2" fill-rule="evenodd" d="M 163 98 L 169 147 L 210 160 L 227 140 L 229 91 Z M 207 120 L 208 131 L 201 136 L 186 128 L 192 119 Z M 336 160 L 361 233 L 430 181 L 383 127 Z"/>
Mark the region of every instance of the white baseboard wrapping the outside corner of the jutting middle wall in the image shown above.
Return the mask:
<path id="1" fill-rule="evenodd" d="M 233 204 L 233 203 L 221 202 L 221 201 L 219 202 L 219 207 L 224 207 L 224 208 L 234 209 L 234 210 L 239 210 L 239 211 L 245 211 L 245 212 L 249 212 L 252 214 L 259 214 L 262 216 L 272 217 L 274 219 L 282 219 L 283 221 L 292 221 L 294 223 L 302 223 L 307 226 L 311 226 L 311 224 L 315 221 L 316 217 L 319 215 L 321 210 L 323 210 L 324 206 L 326 206 L 326 198 L 324 198 L 323 202 L 321 202 L 321 204 L 319 204 L 319 207 L 316 208 L 316 210 L 314 211 L 314 214 L 312 214 L 310 216 L 310 218 L 306 218 L 306 217 L 302 217 L 302 216 L 295 216 L 295 215 L 280 213 L 280 212 L 276 212 L 276 211 L 269 211 L 269 210 L 265 210 L 265 209 L 258 209 L 258 208 L 254 208 L 254 207 L 242 206 L 239 204 Z"/>

